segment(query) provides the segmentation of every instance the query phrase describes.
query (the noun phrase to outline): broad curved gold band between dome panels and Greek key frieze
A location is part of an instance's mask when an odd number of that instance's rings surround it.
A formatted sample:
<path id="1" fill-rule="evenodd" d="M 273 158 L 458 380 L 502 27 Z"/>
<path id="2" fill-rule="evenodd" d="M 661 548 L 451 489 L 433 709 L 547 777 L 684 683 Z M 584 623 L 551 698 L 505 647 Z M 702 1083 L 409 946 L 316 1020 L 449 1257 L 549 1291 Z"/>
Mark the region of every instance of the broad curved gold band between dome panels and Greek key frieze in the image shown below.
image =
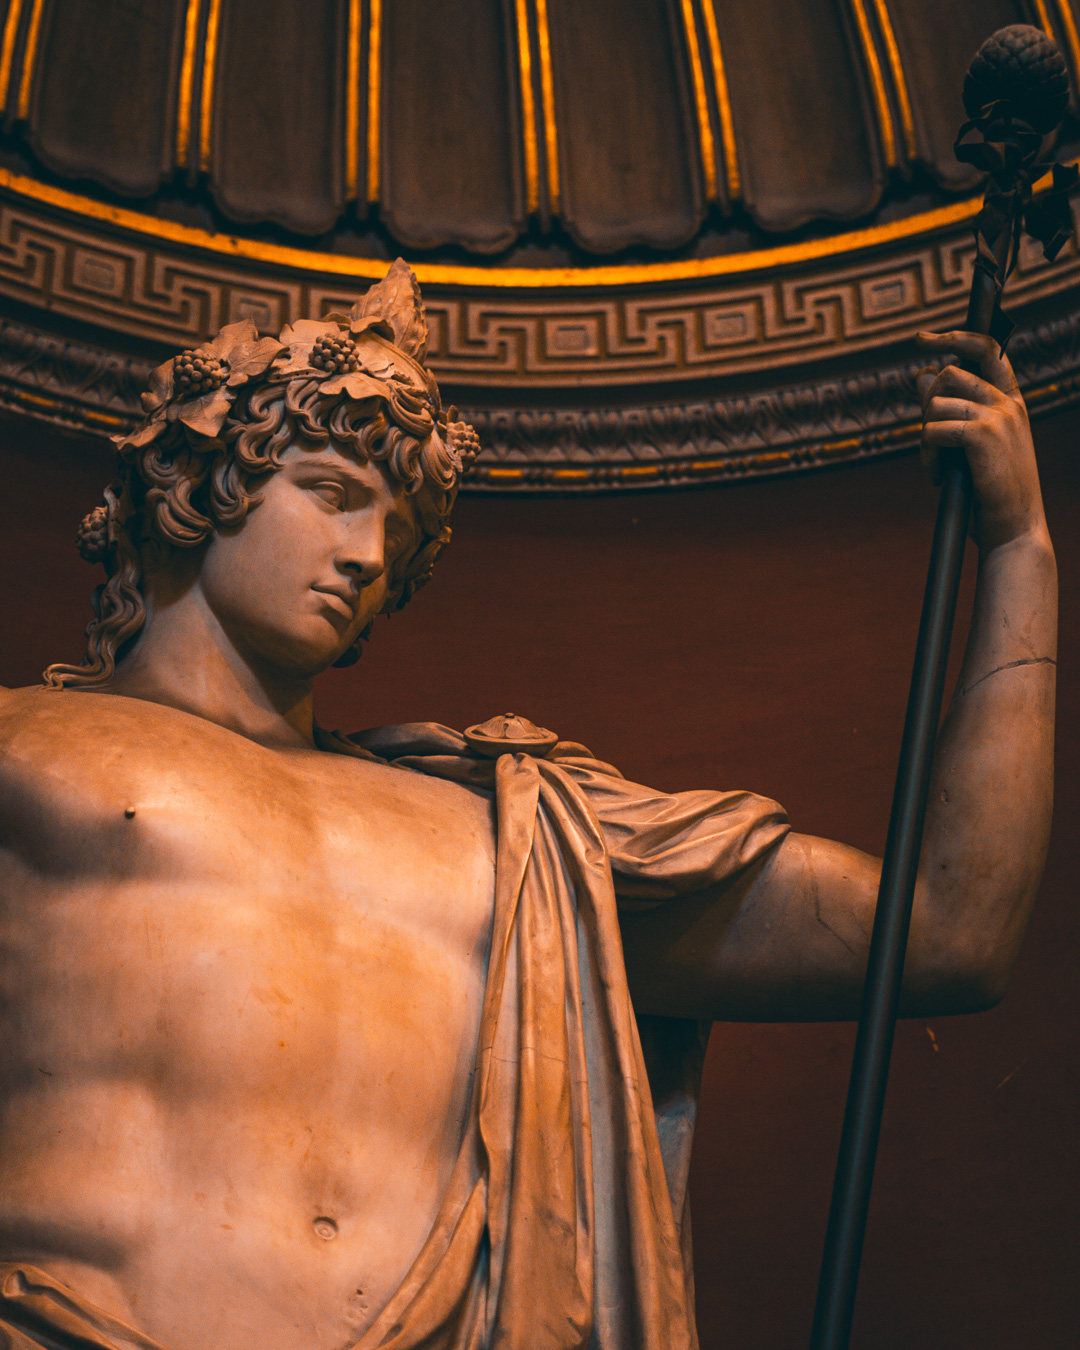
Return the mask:
<path id="1" fill-rule="evenodd" d="M 1041 192 L 1049 188 L 1050 182 L 1050 174 L 1045 174 L 1035 184 L 1035 190 Z M 259 243 L 254 239 L 242 239 L 238 235 L 211 234 L 193 225 L 181 225 L 157 216 L 143 216 L 126 207 L 109 207 L 92 197 L 81 197 L 63 188 L 53 188 L 23 174 L 12 173 L 9 169 L 0 167 L 0 189 L 73 216 L 99 220 L 117 230 L 127 230 L 131 234 L 161 239 L 201 252 L 216 252 L 230 258 L 269 263 L 298 274 L 352 277 L 362 281 L 377 281 L 386 275 L 386 263 L 374 258 L 347 258 L 340 254 Z M 822 258 L 841 258 L 944 230 L 956 230 L 973 220 L 981 205 L 981 197 L 967 197 L 964 201 L 954 201 L 950 207 L 938 207 L 936 211 L 925 211 L 903 220 L 890 220 L 884 225 L 850 230 L 841 235 L 807 239 L 803 243 L 783 244 L 778 248 L 726 254 L 720 258 L 688 258 L 682 262 L 636 263 L 614 267 L 463 267 L 417 262 L 413 263 L 413 271 L 421 285 L 470 286 L 482 290 L 548 290 L 552 288 L 594 290 L 606 286 L 703 281 L 713 277 L 772 271 L 776 267 L 788 267 Z"/>

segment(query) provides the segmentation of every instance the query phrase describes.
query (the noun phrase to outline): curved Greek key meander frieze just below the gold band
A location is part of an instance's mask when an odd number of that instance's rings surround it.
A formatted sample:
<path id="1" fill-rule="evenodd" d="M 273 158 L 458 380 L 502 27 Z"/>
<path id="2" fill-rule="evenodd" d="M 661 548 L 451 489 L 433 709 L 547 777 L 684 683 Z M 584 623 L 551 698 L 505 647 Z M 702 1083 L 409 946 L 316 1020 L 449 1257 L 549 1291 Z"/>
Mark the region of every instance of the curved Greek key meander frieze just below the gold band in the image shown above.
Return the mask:
<path id="1" fill-rule="evenodd" d="M 749 375 L 954 324 L 972 256 L 964 228 L 846 265 L 803 263 L 693 290 L 522 298 L 431 286 L 431 364 L 450 386 L 516 390 Z M 1025 247 L 1010 306 L 1077 279 L 1073 244 L 1053 265 Z M 170 347 L 193 346 L 240 317 L 277 329 L 348 306 L 364 285 L 188 256 L 158 240 L 88 231 L 22 200 L 0 201 L 0 294 Z"/>

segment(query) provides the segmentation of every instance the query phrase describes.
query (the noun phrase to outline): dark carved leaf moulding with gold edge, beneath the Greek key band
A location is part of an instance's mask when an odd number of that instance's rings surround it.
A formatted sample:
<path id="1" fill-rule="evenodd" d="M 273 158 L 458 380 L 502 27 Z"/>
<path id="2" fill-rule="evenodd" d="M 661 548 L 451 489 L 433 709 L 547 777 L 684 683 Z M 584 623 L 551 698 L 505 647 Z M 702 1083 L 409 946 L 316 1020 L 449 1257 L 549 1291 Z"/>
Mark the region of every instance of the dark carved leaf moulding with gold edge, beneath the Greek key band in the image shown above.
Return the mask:
<path id="1" fill-rule="evenodd" d="M 1080 400 L 1080 312 L 1018 332 L 1033 412 Z M 0 408 L 111 433 L 139 416 L 151 362 L 0 321 Z M 466 408 L 482 452 L 473 491 L 589 491 L 730 482 L 910 448 L 918 363 L 747 396 L 643 406 Z"/>

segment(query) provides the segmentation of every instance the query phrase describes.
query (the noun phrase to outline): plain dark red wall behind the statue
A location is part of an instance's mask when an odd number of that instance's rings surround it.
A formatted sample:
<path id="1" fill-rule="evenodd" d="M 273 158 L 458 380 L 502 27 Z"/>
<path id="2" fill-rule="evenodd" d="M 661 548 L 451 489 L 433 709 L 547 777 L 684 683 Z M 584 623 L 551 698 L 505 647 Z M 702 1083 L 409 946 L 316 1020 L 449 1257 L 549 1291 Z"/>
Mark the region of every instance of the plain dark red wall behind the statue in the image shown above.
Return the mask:
<path id="1" fill-rule="evenodd" d="M 1042 900 L 992 1013 L 899 1029 L 857 1350 L 1065 1350 L 1080 1324 L 1080 416 L 1040 425 L 1062 568 L 1058 807 Z M 0 427 L 0 682 L 81 653 L 72 545 L 108 458 Z M 455 541 L 325 725 L 514 710 L 662 787 L 753 787 L 879 850 L 933 490 L 911 458 L 643 497 L 464 498 Z M 718 1026 L 695 1153 L 705 1350 L 806 1345 L 852 1027 Z"/>

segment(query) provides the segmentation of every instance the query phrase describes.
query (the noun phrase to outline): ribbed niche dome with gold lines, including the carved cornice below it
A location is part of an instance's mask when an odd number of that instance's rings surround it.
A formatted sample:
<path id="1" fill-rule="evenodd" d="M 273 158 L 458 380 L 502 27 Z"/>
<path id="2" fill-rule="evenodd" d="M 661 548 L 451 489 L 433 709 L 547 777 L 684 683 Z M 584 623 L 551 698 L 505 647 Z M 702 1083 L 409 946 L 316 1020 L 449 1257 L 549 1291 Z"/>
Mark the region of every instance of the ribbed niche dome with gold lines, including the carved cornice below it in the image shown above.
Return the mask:
<path id="1" fill-rule="evenodd" d="M 964 73 L 1080 0 L 0 0 L 0 406 L 103 432 L 221 324 L 404 254 L 474 489 L 834 464 L 918 440 L 963 324 Z M 1075 112 L 1075 104 L 1073 104 Z M 1075 158 L 1080 127 L 1056 154 Z M 1080 397 L 1080 256 L 1021 251 L 1033 410 Z"/>

